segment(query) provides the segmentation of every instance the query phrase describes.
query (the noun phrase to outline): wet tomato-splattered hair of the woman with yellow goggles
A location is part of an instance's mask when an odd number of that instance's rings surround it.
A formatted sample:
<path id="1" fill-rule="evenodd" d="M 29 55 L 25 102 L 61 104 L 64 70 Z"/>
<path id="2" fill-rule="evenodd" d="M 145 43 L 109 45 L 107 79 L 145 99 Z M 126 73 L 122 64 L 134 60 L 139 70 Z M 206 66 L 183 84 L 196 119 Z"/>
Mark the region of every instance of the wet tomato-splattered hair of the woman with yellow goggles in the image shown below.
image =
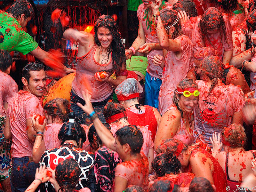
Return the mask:
<path id="1" fill-rule="evenodd" d="M 181 80 L 180 83 L 177 85 L 177 87 L 180 89 L 195 87 L 198 90 L 198 86 L 197 86 L 196 82 L 190 78 L 185 78 L 185 79 Z M 183 111 L 181 110 L 181 108 L 179 106 L 180 96 L 181 96 L 181 94 L 178 94 L 177 89 L 175 89 L 174 93 L 173 93 L 172 102 L 175 103 L 175 105 L 177 106 L 177 109 L 180 111 L 181 117 L 183 117 Z"/>

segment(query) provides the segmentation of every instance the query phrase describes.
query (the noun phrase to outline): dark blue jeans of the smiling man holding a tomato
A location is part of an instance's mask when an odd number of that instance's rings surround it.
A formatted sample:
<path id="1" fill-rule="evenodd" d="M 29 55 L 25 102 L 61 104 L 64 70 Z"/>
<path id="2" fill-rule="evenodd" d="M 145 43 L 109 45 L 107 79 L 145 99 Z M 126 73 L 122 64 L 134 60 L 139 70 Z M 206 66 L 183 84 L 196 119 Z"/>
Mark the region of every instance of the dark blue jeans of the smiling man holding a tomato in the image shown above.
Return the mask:
<path id="1" fill-rule="evenodd" d="M 28 157 L 12 158 L 12 192 L 24 192 L 34 181 L 37 167 L 39 164 L 30 162 Z"/>

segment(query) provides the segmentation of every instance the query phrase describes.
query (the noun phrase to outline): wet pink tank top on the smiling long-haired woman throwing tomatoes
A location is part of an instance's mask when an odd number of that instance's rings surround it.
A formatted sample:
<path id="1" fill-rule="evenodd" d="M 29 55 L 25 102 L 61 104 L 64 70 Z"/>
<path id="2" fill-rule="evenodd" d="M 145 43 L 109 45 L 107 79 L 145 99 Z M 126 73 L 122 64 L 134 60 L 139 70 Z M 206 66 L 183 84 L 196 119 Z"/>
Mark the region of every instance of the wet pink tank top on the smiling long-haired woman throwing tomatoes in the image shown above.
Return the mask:
<path id="1" fill-rule="evenodd" d="M 76 76 L 72 82 L 72 89 L 75 90 L 80 98 L 83 98 L 82 90 L 86 89 L 88 86 L 92 88 L 91 102 L 100 102 L 107 99 L 113 90 L 112 85 L 108 82 L 100 82 L 94 78 L 94 74 L 98 71 L 110 71 L 113 69 L 111 72 L 107 72 L 109 76 L 111 76 L 114 71 L 111 54 L 109 55 L 110 59 L 107 64 L 103 65 L 96 62 L 94 59 L 96 48 L 97 45 L 94 44 L 87 54 L 77 58 Z M 86 80 L 89 85 L 85 85 Z"/>

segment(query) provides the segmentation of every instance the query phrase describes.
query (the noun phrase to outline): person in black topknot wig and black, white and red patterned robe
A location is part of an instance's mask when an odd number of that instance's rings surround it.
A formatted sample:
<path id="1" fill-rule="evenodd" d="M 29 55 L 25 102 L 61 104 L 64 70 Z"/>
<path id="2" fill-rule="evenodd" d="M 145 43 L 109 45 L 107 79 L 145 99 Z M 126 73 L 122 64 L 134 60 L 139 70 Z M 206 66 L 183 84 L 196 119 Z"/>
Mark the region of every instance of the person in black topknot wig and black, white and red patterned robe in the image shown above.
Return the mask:
<path id="1" fill-rule="evenodd" d="M 77 190 L 88 187 L 94 190 L 94 183 L 88 182 L 88 173 L 94 164 L 94 155 L 91 152 L 87 152 L 81 149 L 84 141 L 86 140 L 86 133 L 84 128 L 75 122 L 74 113 L 69 113 L 68 123 L 64 123 L 58 133 L 58 139 L 61 141 L 61 145 L 57 148 L 52 148 L 44 152 L 39 164 L 46 165 L 52 170 L 55 170 L 56 166 L 65 159 L 72 158 L 79 164 L 82 174 L 80 174 L 79 183 L 76 187 Z M 46 182 L 40 190 L 54 192 L 53 185 Z"/>

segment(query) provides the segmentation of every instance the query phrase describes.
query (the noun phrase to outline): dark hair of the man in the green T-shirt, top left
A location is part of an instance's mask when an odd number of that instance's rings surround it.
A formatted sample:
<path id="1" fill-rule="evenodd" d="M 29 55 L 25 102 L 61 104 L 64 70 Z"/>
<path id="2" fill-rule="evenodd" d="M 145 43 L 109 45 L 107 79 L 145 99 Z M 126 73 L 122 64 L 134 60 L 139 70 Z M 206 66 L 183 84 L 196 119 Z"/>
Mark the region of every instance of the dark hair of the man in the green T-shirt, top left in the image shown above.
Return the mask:
<path id="1" fill-rule="evenodd" d="M 11 13 L 15 19 L 20 19 L 21 14 L 25 15 L 25 19 L 35 15 L 32 5 L 27 0 L 16 0 L 6 12 Z"/>

